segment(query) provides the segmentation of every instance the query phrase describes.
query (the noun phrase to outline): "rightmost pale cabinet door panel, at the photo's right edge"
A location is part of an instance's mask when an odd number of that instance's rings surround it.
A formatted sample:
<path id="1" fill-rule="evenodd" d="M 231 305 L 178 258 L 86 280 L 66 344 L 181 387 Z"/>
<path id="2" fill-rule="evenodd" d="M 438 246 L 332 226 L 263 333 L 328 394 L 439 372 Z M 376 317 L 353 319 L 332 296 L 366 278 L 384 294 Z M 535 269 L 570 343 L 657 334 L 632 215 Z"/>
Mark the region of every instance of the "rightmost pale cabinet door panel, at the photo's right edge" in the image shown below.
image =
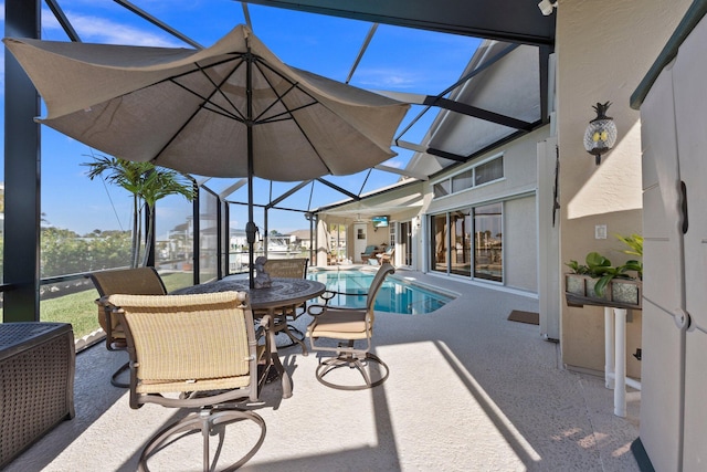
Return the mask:
<path id="1" fill-rule="evenodd" d="M 673 70 L 680 178 L 685 182 L 685 334 L 683 470 L 707 470 L 707 21 L 680 45 Z"/>

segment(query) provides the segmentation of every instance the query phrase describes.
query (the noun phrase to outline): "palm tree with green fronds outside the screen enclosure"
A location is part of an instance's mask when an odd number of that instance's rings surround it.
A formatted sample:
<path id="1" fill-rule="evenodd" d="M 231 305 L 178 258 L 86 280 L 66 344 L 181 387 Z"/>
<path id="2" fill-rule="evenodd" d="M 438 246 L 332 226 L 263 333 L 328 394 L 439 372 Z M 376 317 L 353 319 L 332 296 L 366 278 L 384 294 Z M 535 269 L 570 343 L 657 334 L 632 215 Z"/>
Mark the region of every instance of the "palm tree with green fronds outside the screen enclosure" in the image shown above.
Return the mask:
<path id="1" fill-rule="evenodd" d="M 113 185 L 123 187 L 133 193 L 133 240 L 130 250 L 130 266 L 137 268 L 140 259 L 140 234 L 143 229 L 143 210 L 147 208 L 149 220 L 143 265 L 147 265 L 147 259 L 152 243 L 155 231 L 155 204 L 157 200 L 170 195 L 181 195 L 187 200 L 194 199 L 192 182 L 181 174 L 173 170 L 157 167 L 151 162 L 134 162 L 119 157 L 92 156 L 93 162 L 84 162 L 88 166 L 88 178 L 93 180 L 98 176 Z"/>

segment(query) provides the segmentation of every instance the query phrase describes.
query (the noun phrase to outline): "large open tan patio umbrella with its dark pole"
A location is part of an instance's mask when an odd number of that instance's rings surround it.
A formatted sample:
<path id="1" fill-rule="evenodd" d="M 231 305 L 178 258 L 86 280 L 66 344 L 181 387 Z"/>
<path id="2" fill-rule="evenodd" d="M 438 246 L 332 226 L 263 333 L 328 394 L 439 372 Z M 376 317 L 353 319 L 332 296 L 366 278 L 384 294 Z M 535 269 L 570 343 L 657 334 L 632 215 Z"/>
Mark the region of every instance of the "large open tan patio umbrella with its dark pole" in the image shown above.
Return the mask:
<path id="1" fill-rule="evenodd" d="M 188 174 L 298 181 L 395 155 L 409 105 L 279 61 L 245 25 L 204 50 L 4 39 L 44 98 L 38 119 L 106 154 Z"/>

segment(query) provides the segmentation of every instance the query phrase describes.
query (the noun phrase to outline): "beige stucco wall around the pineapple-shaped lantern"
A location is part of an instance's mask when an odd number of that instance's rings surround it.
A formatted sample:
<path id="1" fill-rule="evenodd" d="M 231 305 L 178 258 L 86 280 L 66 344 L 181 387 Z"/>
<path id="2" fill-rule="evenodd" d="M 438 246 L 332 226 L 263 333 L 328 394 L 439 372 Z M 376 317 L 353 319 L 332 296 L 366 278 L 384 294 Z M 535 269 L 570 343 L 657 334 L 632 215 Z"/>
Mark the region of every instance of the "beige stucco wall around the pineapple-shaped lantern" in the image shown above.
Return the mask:
<path id="1" fill-rule="evenodd" d="M 641 232 L 641 135 L 639 112 L 629 99 L 690 1 L 560 0 L 557 17 L 557 129 L 560 150 L 560 261 L 583 260 L 590 251 L 614 264 L 622 254 L 614 233 Z M 612 102 L 609 115 L 619 140 L 600 166 L 582 145 L 592 105 Z M 606 225 L 608 238 L 594 239 Z M 562 268 L 564 271 L 567 268 Z M 563 286 L 559 287 L 561 292 Z M 630 376 L 641 375 L 631 356 L 641 347 L 640 311 L 627 324 Z M 603 311 L 561 306 L 562 360 L 571 368 L 603 370 Z"/>

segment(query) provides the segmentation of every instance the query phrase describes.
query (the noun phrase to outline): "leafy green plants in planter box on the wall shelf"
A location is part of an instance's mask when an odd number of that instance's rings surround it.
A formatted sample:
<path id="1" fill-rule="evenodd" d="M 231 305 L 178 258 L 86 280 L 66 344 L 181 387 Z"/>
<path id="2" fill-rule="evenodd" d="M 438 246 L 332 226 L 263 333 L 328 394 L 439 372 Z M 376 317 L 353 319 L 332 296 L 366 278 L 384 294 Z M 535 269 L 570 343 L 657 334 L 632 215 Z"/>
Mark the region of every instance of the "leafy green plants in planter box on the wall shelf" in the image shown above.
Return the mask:
<path id="1" fill-rule="evenodd" d="M 643 255 L 643 238 L 639 234 L 616 235 L 629 249 L 626 254 Z M 566 274 L 566 295 L 570 304 L 622 305 L 641 307 L 641 280 L 643 263 L 632 259 L 621 265 L 612 265 L 611 261 L 598 252 L 587 254 L 585 264 L 571 260 L 566 263 L 571 272 Z"/>

